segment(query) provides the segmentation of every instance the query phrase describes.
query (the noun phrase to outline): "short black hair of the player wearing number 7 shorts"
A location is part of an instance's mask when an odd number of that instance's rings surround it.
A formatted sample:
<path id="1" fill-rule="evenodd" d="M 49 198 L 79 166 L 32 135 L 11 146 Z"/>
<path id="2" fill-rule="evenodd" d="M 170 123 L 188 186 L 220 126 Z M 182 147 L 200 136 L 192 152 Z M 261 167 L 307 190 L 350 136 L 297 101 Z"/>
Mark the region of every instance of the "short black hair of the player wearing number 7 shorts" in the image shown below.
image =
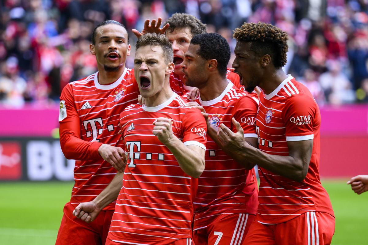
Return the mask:
<path id="1" fill-rule="evenodd" d="M 190 43 L 200 46 L 198 54 L 205 60 L 217 60 L 220 75 L 226 76 L 227 64 L 230 60 L 230 46 L 223 36 L 217 33 L 204 33 L 194 36 Z"/>

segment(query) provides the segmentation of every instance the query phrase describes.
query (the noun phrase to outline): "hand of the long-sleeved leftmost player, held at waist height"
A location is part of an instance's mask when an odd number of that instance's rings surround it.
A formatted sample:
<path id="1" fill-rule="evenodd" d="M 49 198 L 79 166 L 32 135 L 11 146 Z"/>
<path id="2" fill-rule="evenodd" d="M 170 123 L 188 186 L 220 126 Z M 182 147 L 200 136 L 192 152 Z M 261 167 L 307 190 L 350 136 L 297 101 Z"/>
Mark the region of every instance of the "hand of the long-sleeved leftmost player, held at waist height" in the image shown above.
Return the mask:
<path id="1" fill-rule="evenodd" d="M 116 170 L 124 172 L 125 165 L 127 164 L 127 156 L 123 149 L 108 144 L 102 144 L 100 148 L 98 148 L 98 153 Z"/>

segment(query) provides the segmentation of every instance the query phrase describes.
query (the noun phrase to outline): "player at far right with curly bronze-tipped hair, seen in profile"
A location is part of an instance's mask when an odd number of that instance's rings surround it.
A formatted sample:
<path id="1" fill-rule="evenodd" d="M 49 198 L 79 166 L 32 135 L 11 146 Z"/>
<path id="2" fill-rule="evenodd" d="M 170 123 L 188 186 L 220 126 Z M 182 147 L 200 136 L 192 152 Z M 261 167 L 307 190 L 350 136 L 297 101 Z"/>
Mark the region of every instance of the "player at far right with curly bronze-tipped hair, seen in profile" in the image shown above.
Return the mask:
<path id="1" fill-rule="evenodd" d="M 234 38 L 235 72 L 248 91 L 257 85 L 262 89 L 256 115 L 258 148 L 244 141 L 234 118 L 237 133 L 223 124 L 219 129 L 225 147 L 242 158 L 247 169 L 258 164 L 258 222 L 250 227 L 245 244 L 330 244 L 335 217 L 319 180 L 321 116 L 308 89 L 282 70 L 287 34 L 258 22 L 235 29 Z"/>

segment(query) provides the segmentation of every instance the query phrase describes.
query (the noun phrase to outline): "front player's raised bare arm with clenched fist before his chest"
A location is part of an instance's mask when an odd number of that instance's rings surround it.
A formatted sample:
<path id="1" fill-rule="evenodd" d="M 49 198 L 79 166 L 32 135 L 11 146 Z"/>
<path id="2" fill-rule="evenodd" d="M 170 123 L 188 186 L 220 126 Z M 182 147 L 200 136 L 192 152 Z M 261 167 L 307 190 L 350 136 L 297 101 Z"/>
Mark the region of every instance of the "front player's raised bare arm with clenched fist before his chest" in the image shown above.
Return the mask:
<path id="1" fill-rule="evenodd" d="M 198 178 L 205 169 L 205 149 L 198 145 L 184 145 L 174 134 L 171 120 L 157 118 L 152 133 L 169 148 L 179 166 L 191 177 Z"/>

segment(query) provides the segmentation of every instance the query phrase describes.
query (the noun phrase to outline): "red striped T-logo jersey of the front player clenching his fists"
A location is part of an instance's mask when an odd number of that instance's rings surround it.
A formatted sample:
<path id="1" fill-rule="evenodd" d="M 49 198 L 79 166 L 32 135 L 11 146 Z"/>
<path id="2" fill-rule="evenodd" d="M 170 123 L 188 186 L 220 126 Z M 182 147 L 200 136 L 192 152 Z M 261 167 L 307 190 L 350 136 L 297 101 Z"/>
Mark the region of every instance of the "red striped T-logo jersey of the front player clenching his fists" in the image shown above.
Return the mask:
<path id="1" fill-rule="evenodd" d="M 176 93 L 156 107 L 130 105 L 120 115 L 128 164 L 108 238 L 126 244 L 172 244 L 191 238 L 198 179 L 188 176 L 152 134 L 156 118 L 170 118 L 184 145 L 206 148 L 206 122 Z"/>

